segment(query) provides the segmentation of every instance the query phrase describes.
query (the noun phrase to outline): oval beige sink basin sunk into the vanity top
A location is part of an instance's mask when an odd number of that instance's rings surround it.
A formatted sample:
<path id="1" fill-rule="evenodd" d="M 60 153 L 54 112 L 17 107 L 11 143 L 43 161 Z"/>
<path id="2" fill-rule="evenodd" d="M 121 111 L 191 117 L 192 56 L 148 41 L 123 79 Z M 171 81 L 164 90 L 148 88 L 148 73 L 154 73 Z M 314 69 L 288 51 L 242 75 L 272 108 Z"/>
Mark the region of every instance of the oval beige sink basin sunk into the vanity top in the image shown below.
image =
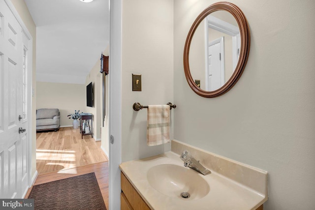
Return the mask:
<path id="1" fill-rule="evenodd" d="M 197 172 L 184 166 L 160 164 L 147 173 L 150 185 L 158 192 L 185 200 L 195 200 L 206 196 L 210 186 Z M 181 196 L 181 193 L 183 196 Z M 188 192 L 190 197 L 187 196 Z M 188 198 L 185 198 L 188 197 Z"/>

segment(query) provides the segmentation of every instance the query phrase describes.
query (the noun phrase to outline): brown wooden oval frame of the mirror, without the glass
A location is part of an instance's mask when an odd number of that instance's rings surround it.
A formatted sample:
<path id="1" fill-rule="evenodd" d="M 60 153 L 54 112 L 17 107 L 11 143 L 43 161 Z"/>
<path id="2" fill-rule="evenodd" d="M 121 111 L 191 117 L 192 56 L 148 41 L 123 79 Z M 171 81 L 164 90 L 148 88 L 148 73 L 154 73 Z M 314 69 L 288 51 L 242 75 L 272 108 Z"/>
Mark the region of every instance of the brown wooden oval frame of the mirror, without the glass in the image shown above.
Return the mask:
<path id="1" fill-rule="evenodd" d="M 190 69 L 189 69 L 189 49 L 190 49 L 190 43 L 193 37 L 194 32 L 196 31 L 197 27 L 199 24 L 212 12 L 218 11 L 218 10 L 223 10 L 231 13 L 234 18 L 237 21 L 237 24 L 240 28 L 240 35 L 241 35 L 241 49 L 240 49 L 240 56 L 239 60 L 237 63 L 237 66 L 234 70 L 234 73 L 230 77 L 230 79 L 218 90 L 214 91 L 206 91 L 200 89 L 195 83 L 194 80 L 192 79 L 192 76 L 190 74 Z M 198 95 L 206 98 L 213 98 L 220 96 L 230 90 L 236 82 L 240 79 L 244 68 L 246 66 L 249 54 L 250 54 L 250 45 L 251 45 L 251 34 L 250 34 L 250 28 L 248 25 L 248 22 L 246 20 L 246 17 L 242 10 L 236 6 L 233 3 L 229 2 L 217 2 L 209 7 L 207 7 L 205 10 L 203 10 L 196 20 L 193 22 L 189 33 L 187 35 L 186 43 L 185 43 L 185 48 L 184 48 L 184 71 L 185 71 L 185 76 L 187 79 L 187 82 L 190 86 L 190 88 L 197 93 Z"/>

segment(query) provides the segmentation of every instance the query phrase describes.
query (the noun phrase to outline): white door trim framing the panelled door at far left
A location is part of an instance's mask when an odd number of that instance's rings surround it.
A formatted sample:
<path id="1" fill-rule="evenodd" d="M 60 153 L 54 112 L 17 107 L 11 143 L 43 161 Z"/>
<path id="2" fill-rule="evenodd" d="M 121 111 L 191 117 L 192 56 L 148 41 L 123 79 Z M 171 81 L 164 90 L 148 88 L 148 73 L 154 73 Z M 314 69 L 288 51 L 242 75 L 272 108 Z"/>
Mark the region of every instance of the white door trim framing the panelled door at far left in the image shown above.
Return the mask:
<path id="1" fill-rule="evenodd" d="M 31 33 L 29 32 L 28 28 L 26 27 L 26 25 L 24 24 L 22 18 L 20 17 L 18 11 L 16 10 L 16 8 L 14 7 L 13 3 L 11 2 L 11 0 L 4 0 L 5 3 L 8 5 L 9 9 L 11 10 L 12 14 L 14 15 L 14 17 L 16 18 L 16 20 L 18 21 L 18 23 L 20 24 L 21 28 L 22 28 L 22 33 L 25 33 L 26 36 L 28 36 L 29 38 L 29 48 L 28 48 L 28 55 L 27 55 L 27 105 L 28 105 L 28 187 L 32 186 L 32 70 L 33 70 L 33 66 L 32 66 L 32 62 L 33 62 L 33 37 L 31 35 Z M 23 45 L 24 47 L 24 45 Z M 37 171 L 34 173 L 34 178 L 37 175 Z M 33 179 L 34 180 L 34 179 Z M 25 197 L 26 192 L 22 192 L 22 198 Z"/>

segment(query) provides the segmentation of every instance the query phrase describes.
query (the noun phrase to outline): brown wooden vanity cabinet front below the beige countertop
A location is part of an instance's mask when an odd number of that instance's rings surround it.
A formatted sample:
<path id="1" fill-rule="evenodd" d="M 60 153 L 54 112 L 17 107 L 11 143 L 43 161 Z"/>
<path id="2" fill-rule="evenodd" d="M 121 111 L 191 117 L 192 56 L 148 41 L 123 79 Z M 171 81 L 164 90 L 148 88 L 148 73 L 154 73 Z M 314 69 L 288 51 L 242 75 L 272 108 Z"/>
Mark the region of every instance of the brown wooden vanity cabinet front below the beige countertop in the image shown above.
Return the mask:
<path id="1" fill-rule="evenodd" d="M 130 209 L 130 206 L 134 210 L 150 210 L 149 206 L 144 202 L 139 193 L 133 188 L 122 172 L 121 185 L 123 191 L 121 194 L 121 206 L 126 208 L 122 208 L 122 210 L 132 210 Z M 130 204 L 130 206 L 128 204 Z"/>

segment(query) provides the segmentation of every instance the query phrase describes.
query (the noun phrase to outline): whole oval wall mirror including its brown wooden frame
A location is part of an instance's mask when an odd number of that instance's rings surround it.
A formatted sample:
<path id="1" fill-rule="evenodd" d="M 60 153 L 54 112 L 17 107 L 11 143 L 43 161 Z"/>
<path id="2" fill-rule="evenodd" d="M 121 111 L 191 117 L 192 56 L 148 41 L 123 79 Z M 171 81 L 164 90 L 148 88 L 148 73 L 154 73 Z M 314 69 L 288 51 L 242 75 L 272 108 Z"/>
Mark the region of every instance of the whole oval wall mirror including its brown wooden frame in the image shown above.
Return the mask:
<path id="1" fill-rule="evenodd" d="M 190 88 L 217 97 L 241 77 L 250 52 L 250 30 L 239 7 L 217 2 L 192 24 L 184 48 L 184 71 Z"/>

